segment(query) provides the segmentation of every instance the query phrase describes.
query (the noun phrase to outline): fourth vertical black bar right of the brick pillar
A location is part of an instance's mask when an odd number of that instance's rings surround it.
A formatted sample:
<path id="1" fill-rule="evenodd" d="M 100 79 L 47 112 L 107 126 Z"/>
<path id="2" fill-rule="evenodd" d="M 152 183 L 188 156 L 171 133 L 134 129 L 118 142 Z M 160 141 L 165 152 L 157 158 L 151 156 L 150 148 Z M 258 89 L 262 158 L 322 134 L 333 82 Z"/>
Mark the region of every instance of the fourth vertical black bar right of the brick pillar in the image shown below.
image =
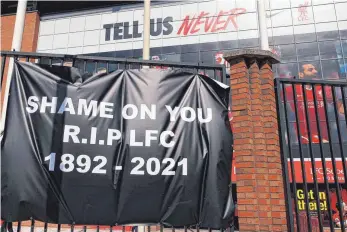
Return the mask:
<path id="1" fill-rule="evenodd" d="M 310 85 L 311 89 L 312 89 L 312 85 Z M 319 197 L 319 190 L 318 190 L 318 183 L 317 183 L 317 176 L 316 176 L 316 161 L 315 158 L 313 156 L 313 151 L 312 151 L 312 141 L 311 141 L 311 121 L 310 121 L 310 117 L 312 115 L 309 115 L 309 110 L 308 110 L 308 106 L 307 106 L 307 94 L 306 94 L 306 86 L 301 85 L 301 90 L 303 91 L 303 101 L 304 101 L 304 112 L 305 112 L 305 120 L 306 120 L 306 125 L 308 126 L 307 129 L 307 135 L 308 135 L 308 144 L 309 144 L 309 152 L 310 152 L 310 158 L 311 158 L 311 165 L 312 165 L 312 174 L 313 174 L 313 183 L 314 183 L 314 194 L 316 196 L 316 204 L 317 204 L 317 211 L 318 211 L 318 221 L 319 221 L 319 231 L 323 232 L 323 221 L 322 221 L 322 214 L 321 214 L 321 210 L 320 210 L 320 197 Z M 305 169 L 306 171 L 306 169 Z M 325 170 L 324 170 L 325 171 Z M 324 181 L 326 182 L 327 180 L 324 179 Z M 327 189 L 329 190 L 329 189 Z M 307 206 L 308 207 L 308 206 Z"/>

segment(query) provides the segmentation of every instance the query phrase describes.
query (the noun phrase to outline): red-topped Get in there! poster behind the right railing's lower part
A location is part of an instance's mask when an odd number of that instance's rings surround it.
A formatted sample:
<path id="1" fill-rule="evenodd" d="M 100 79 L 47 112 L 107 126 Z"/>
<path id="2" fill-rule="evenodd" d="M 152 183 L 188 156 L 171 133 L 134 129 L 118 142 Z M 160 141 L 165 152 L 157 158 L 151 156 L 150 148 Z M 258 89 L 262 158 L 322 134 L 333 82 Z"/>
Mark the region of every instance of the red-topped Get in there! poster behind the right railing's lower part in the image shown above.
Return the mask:
<path id="1" fill-rule="evenodd" d="M 315 164 L 315 169 L 312 167 L 313 162 Z M 305 168 L 302 168 L 301 163 L 303 163 Z M 303 228 L 306 228 L 308 225 L 307 210 L 309 211 L 311 226 L 314 231 L 319 231 L 319 210 L 321 221 L 325 227 L 330 226 L 330 220 L 335 228 L 341 227 L 341 218 L 345 220 L 345 224 L 347 223 L 347 189 L 345 187 L 342 161 L 335 160 L 335 165 L 336 173 L 334 172 L 333 162 L 331 160 L 325 160 L 324 169 L 320 159 L 314 161 L 306 159 L 303 162 L 301 162 L 300 159 L 295 159 L 290 162 L 288 159 L 289 181 L 292 190 L 292 206 L 295 215 L 294 219 L 297 219 L 297 210 L 300 225 Z M 295 172 L 293 172 L 293 170 Z M 303 172 L 306 174 L 307 191 L 305 191 Z M 315 187 L 314 174 L 318 187 L 317 189 Z M 335 174 L 337 180 L 335 180 Z M 295 179 L 295 189 L 293 177 Z M 325 177 L 328 188 L 325 184 Z M 336 184 L 338 184 L 340 188 L 341 205 L 343 206 L 341 208 L 342 217 L 340 217 L 338 209 L 339 201 Z M 294 197 L 296 198 L 296 202 Z M 331 218 L 329 216 L 329 211 L 331 213 Z"/>

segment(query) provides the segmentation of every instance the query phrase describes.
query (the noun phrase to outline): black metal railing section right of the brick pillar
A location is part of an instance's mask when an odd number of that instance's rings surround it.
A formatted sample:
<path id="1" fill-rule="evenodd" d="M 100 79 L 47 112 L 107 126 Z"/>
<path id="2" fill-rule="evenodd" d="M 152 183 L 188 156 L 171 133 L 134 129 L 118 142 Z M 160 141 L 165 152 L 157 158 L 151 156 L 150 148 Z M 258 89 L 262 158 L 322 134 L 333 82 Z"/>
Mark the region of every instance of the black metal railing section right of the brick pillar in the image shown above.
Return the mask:
<path id="1" fill-rule="evenodd" d="M 289 230 L 345 231 L 347 82 L 275 86 Z"/>

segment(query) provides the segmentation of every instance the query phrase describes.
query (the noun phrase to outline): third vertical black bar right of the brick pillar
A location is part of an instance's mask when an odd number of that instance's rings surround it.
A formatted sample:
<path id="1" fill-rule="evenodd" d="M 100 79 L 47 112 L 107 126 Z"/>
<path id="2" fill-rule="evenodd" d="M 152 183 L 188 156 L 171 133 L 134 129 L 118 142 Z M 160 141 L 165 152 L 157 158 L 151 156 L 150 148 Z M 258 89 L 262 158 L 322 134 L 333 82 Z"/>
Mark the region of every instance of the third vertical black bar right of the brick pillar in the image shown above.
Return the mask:
<path id="1" fill-rule="evenodd" d="M 308 230 L 312 231 L 312 224 L 311 224 L 311 217 L 310 217 L 310 209 L 309 209 L 309 201 L 308 201 L 308 190 L 307 190 L 307 181 L 306 181 L 306 169 L 305 169 L 305 160 L 304 160 L 304 151 L 301 144 L 301 136 L 302 131 L 300 128 L 300 118 L 298 110 L 300 109 L 300 106 L 298 104 L 298 93 L 296 90 L 296 86 L 300 86 L 302 90 L 303 84 L 291 84 L 293 87 L 294 92 L 294 113 L 295 113 L 295 122 L 297 125 L 297 131 L 298 131 L 298 143 L 299 143 L 299 155 L 300 155 L 300 163 L 301 163 L 301 173 L 304 181 L 304 195 L 305 195 L 305 204 L 306 204 L 306 214 L 307 214 L 307 223 L 308 223 Z"/>

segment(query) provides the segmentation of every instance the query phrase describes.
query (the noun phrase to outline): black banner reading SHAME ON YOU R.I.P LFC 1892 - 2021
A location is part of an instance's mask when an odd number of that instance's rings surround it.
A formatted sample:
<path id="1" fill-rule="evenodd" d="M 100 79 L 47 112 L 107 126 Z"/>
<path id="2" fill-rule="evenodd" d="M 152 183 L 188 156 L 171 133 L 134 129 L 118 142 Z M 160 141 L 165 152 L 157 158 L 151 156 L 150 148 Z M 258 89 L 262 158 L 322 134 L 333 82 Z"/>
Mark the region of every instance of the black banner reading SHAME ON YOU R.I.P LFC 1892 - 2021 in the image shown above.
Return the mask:
<path id="1" fill-rule="evenodd" d="M 228 87 L 181 70 L 87 76 L 16 62 L 2 218 L 227 227 L 228 99 Z"/>

